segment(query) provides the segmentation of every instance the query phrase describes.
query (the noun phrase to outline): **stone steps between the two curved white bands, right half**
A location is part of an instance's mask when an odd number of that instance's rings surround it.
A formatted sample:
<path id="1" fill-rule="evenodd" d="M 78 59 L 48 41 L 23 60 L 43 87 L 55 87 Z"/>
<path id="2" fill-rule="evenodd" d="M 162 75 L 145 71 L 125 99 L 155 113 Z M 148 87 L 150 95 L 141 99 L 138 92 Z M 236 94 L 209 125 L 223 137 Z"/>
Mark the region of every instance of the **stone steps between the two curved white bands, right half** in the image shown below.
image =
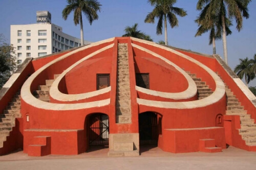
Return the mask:
<path id="1" fill-rule="evenodd" d="M 190 71 L 186 71 L 186 73 L 195 81 L 197 85 L 197 92 L 198 92 L 198 100 L 204 99 L 213 92 L 205 82 L 202 82 L 201 78 L 197 78 L 196 74 L 191 74 Z"/>

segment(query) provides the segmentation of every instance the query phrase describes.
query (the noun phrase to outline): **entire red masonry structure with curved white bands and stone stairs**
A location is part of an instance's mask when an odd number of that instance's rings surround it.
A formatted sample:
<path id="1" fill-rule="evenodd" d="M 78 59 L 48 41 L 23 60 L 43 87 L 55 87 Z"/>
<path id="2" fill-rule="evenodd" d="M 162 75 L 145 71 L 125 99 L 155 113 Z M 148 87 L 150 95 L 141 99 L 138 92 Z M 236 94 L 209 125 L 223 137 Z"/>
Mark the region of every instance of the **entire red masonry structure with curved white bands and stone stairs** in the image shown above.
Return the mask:
<path id="1" fill-rule="evenodd" d="M 218 55 L 136 38 L 27 58 L 0 103 L 0 155 L 256 151 L 256 98 Z"/>

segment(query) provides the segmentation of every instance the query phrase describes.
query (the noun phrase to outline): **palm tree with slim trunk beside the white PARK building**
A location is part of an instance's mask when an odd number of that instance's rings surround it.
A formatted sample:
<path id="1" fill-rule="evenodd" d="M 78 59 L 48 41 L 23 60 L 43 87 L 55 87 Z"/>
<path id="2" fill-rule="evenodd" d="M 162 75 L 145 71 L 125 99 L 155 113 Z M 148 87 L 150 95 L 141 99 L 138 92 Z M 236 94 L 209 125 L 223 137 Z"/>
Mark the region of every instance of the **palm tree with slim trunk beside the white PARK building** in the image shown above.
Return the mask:
<path id="1" fill-rule="evenodd" d="M 98 19 L 101 4 L 97 0 L 67 0 L 68 4 L 62 11 L 63 19 L 67 20 L 69 14 L 74 11 L 75 26 L 80 24 L 81 45 L 83 45 L 82 13 L 86 15 L 90 25 Z"/>

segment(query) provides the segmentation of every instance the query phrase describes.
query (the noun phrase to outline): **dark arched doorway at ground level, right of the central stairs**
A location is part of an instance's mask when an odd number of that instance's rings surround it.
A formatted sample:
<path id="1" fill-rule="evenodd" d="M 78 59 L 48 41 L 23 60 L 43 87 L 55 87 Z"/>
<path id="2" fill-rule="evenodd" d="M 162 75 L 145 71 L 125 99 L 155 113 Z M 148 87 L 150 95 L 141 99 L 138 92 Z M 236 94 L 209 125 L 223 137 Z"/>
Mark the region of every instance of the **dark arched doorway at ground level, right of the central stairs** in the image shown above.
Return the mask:
<path id="1" fill-rule="evenodd" d="M 157 144 L 161 123 L 158 122 L 159 114 L 144 112 L 139 114 L 140 145 Z M 159 117 L 160 120 L 160 117 Z"/>

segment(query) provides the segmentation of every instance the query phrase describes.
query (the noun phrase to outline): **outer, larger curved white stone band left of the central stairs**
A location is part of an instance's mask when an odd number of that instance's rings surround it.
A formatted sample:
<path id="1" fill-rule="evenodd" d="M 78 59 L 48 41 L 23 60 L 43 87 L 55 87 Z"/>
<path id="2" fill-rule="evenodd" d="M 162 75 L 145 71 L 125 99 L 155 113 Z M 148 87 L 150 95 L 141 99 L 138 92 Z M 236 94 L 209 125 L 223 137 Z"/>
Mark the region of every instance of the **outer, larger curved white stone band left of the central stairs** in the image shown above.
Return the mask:
<path id="1" fill-rule="evenodd" d="M 76 104 L 57 104 L 57 103 L 48 103 L 41 101 L 39 99 L 36 99 L 33 94 L 30 91 L 31 83 L 34 81 L 34 79 L 47 67 L 50 65 L 63 60 L 77 52 L 86 50 L 87 48 L 97 46 L 102 43 L 111 42 L 114 38 L 106 39 L 103 41 L 98 41 L 95 43 L 92 43 L 90 45 L 83 46 L 81 48 L 78 48 L 77 50 L 74 50 L 70 53 L 67 53 L 61 57 L 56 58 L 55 60 L 47 63 L 46 65 L 42 66 L 38 70 L 32 74 L 27 81 L 23 84 L 22 90 L 21 90 L 21 98 L 28 104 L 30 104 L 33 107 L 40 108 L 40 109 L 46 109 L 46 110 L 78 110 L 78 109 L 86 109 L 86 108 L 92 108 L 92 107 L 102 107 L 110 104 L 110 99 L 101 100 L 101 101 L 95 101 L 95 102 L 88 102 L 88 103 L 76 103 Z"/>

